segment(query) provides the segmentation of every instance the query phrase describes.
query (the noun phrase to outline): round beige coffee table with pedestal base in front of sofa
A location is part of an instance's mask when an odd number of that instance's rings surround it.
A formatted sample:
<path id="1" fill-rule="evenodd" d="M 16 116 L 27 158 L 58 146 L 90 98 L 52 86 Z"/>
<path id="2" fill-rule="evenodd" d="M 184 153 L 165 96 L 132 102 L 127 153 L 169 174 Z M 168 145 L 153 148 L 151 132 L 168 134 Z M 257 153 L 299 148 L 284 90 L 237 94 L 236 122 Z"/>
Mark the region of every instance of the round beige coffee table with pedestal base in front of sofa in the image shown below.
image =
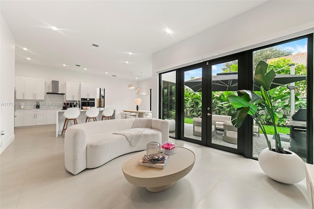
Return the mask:
<path id="1" fill-rule="evenodd" d="M 170 188 L 188 174 L 195 163 L 195 154 L 186 148 L 177 147 L 177 154 L 168 157 L 164 169 L 138 165 L 146 151 L 136 153 L 122 164 L 122 172 L 128 182 L 146 187 L 148 191 L 160 192 Z"/>

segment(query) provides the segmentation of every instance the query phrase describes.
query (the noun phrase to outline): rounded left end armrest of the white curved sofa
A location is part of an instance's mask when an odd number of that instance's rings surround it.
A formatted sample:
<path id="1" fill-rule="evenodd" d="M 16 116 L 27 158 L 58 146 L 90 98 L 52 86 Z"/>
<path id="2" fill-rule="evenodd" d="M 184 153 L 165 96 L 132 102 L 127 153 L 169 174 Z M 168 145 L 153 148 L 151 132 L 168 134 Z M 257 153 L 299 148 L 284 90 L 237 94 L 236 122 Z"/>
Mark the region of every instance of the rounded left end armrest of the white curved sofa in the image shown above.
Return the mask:
<path id="1" fill-rule="evenodd" d="M 86 132 L 76 126 L 65 131 L 64 165 L 74 175 L 86 169 Z"/>

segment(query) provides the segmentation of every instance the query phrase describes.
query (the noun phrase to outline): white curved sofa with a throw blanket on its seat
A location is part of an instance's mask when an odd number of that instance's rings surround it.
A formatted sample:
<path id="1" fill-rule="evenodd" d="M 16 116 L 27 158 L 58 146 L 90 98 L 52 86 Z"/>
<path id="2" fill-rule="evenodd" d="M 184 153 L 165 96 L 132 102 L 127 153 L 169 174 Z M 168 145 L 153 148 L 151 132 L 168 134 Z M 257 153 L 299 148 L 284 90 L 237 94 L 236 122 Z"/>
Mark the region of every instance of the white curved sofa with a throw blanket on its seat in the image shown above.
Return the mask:
<path id="1" fill-rule="evenodd" d="M 113 134 L 131 128 L 143 131 L 135 146 L 131 145 L 126 136 Z M 115 157 L 146 150 L 147 143 L 151 141 L 162 143 L 168 141 L 168 138 L 168 122 L 155 118 L 104 120 L 71 126 L 64 136 L 65 168 L 76 175 L 86 168 L 99 167 Z"/>

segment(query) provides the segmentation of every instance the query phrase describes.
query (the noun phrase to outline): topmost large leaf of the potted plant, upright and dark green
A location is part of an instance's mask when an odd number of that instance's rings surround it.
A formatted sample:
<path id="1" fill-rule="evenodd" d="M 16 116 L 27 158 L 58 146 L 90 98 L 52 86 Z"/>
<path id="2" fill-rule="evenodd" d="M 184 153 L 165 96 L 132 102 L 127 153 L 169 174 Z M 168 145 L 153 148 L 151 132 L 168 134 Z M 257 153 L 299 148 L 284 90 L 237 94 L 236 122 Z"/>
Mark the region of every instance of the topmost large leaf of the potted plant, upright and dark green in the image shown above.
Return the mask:
<path id="1" fill-rule="evenodd" d="M 264 61 L 260 61 L 255 69 L 254 80 L 255 82 L 261 84 L 264 89 L 269 90 L 272 81 L 276 77 L 274 70 L 267 72 L 268 64 Z"/>

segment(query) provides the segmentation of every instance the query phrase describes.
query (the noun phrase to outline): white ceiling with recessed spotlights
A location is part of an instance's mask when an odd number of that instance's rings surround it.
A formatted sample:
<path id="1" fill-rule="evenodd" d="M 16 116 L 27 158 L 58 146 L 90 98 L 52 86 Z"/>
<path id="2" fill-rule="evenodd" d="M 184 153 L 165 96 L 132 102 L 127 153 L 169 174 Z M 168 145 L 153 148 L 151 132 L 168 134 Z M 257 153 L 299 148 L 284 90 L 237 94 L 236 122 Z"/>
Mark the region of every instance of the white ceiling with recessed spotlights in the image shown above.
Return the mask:
<path id="1" fill-rule="evenodd" d="M 0 10 L 16 41 L 16 61 L 141 80 L 152 76 L 154 52 L 265 1 L 1 0 Z"/>

